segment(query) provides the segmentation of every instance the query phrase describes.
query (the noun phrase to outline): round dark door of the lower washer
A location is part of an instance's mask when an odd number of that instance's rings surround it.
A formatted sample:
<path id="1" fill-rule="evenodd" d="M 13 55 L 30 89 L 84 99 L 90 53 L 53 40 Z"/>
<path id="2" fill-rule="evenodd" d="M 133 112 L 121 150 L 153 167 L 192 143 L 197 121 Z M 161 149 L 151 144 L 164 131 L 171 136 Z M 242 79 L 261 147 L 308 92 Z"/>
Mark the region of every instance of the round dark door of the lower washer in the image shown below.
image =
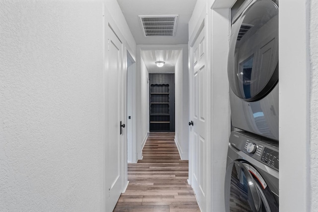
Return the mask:
<path id="1" fill-rule="evenodd" d="M 225 180 L 226 212 L 278 212 L 264 179 L 248 163 L 232 162 Z"/>

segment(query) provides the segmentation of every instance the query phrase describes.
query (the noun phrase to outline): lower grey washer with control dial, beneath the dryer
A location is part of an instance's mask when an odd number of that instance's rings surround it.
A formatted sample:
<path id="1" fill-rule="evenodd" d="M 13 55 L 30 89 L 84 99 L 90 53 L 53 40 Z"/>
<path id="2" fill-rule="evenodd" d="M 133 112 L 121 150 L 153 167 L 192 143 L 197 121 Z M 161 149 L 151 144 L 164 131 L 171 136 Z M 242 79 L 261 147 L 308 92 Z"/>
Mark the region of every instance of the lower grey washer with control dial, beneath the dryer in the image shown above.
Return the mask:
<path id="1" fill-rule="evenodd" d="M 226 212 L 278 212 L 278 179 L 278 143 L 233 131 L 225 177 Z"/>

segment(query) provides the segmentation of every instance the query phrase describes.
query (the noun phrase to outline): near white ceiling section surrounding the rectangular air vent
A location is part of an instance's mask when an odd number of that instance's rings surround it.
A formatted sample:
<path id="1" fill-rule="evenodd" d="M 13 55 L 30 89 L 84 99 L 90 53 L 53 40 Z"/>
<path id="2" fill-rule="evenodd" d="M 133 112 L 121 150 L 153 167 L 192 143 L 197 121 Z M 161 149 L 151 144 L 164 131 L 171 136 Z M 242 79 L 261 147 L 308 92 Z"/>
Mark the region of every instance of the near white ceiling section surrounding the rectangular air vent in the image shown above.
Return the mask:
<path id="1" fill-rule="evenodd" d="M 117 0 L 137 44 L 187 44 L 188 22 L 197 0 Z M 179 15 L 174 37 L 145 37 L 138 15 Z"/>

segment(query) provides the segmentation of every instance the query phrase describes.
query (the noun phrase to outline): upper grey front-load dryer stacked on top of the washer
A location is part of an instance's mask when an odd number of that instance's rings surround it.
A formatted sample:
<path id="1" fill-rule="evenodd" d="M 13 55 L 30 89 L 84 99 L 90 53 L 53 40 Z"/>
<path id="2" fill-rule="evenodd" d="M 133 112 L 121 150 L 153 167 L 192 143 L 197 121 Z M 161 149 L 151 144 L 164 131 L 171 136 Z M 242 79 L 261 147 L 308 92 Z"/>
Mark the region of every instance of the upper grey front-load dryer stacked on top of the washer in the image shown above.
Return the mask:
<path id="1" fill-rule="evenodd" d="M 278 141 L 278 1 L 246 0 L 228 60 L 232 125 Z"/>

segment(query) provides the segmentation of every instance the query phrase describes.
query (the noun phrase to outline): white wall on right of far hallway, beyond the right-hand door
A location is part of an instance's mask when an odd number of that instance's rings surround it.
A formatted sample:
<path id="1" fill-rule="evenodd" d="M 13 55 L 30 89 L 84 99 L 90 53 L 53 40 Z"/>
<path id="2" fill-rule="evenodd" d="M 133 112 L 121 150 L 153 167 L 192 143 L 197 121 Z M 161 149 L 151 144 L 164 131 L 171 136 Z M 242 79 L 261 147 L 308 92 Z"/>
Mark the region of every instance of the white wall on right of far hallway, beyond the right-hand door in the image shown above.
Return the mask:
<path id="1" fill-rule="evenodd" d="M 179 45 L 181 47 L 181 45 Z M 182 160 L 189 159 L 189 77 L 188 47 L 182 49 L 175 64 L 175 143 Z"/>

